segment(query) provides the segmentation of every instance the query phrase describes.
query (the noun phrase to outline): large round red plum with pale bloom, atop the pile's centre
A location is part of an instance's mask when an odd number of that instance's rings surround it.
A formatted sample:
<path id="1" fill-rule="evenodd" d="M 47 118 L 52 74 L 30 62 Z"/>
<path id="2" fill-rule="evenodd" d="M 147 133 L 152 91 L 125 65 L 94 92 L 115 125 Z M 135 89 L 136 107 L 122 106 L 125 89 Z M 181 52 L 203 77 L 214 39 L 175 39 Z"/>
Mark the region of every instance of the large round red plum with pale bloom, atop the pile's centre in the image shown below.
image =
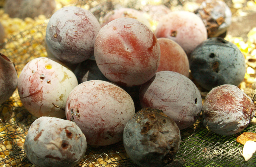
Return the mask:
<path id="1" fill-rule="evenodd" d="M 94 47 L 100 71 L 120 86 L 147 82 L 159 65 L 160 46 L 156 36 L 132 18 L 118 18 L 102 27 Z"/>

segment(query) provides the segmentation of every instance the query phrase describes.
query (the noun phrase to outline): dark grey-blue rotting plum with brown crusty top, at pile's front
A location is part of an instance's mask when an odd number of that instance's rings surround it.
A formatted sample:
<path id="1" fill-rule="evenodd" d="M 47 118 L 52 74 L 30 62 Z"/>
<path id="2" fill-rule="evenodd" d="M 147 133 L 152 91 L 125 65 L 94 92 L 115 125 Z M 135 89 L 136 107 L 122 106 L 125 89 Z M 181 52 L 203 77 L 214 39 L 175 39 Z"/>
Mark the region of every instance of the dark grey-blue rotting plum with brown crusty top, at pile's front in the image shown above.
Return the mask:
<path id="1" fill-rule="evenodd" d="M 141 167 L 171 163 L 180 146 L 180 130 L 163 111 L 142 108 L 126 123 L 123 133 L 128 156 Z"/>

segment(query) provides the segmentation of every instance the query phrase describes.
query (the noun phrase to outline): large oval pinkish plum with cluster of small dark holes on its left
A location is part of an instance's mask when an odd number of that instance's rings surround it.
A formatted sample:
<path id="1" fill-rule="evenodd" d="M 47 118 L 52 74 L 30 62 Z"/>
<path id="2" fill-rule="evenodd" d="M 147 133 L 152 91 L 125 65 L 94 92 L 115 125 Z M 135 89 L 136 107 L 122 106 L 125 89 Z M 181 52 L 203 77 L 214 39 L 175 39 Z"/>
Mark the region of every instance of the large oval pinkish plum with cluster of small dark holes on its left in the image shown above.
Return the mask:
<path id="1" fill-rule="evenodd" d="M 101 80 L 80 83 L 66 104 L 67 120 L 80 127 L 92 146 L 121 141 L 124 126 L 134 113 L 131 96 L 118 85 Z"/>

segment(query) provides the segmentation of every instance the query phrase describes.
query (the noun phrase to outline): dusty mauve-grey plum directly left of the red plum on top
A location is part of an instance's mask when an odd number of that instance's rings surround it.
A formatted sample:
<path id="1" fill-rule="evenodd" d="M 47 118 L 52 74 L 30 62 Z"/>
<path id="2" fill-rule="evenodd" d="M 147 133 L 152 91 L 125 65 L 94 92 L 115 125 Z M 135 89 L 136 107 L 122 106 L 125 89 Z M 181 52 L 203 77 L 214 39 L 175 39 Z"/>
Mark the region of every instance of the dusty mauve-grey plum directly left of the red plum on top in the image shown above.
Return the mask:
<path id="1" fill-rule="evenodd" d="M 94 41 L 100 23 L 86 9 L 68 6 L 50 18 L 45 40 L 49 51 L 59 60 L 80 63 L 93 55 Z"/>

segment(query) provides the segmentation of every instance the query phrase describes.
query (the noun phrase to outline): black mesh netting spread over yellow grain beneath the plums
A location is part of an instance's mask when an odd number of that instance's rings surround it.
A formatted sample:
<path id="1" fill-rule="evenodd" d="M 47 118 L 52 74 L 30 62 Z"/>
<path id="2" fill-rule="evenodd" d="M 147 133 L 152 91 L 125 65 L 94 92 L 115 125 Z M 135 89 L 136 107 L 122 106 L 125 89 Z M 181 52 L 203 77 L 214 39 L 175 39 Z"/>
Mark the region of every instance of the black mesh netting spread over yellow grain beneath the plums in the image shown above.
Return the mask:
<path id="1" fill-rule="evenodd" d="M 180 1 L 177 2 L 179 4 Z M 89 8 L 100 18 L 108 10 L 113 9 L 112 4 L 106 7 L 106 3 L 95 7 L 93 1 L 77 1 L 76 5 L 89 5 Z M 132 1 L 127 4 L 134 5 L 131 3 Z M 129 5 L 127 7 L 134 7 Z M 8 41 L 0 45 L 0 52 L 15 63 L 18 74 L 29 60 L 47 55 L 44 43 L 46 25 L 47 20 L 11 36 Z M 27 159 L 23 144 L 29 126 L 36 118 L 22 106 L 17 90 L 12 97 L 0 105 L 0 113 L 0 166 L 35 166 Z M 244 161 L 240 153 L 243 145 L 236 142 L 236 135 L 222 136 L 209 132 L 200 118 L 199 116 L 193 127 L 181 131 L 181 144 L 176 155 L 176 160 L 180 161 L 180 164 L 188 167 L 254 167 L 256 165 L 256 154 L 248 162 Z M 243 132 L 256 132 L 256 125 L 249 125 Z M 136 167 L 137 165 L 129 159 L 122 142 L 119 142 L 105 147 L 88 146 L 84 158 L 76 166 Z"/>

